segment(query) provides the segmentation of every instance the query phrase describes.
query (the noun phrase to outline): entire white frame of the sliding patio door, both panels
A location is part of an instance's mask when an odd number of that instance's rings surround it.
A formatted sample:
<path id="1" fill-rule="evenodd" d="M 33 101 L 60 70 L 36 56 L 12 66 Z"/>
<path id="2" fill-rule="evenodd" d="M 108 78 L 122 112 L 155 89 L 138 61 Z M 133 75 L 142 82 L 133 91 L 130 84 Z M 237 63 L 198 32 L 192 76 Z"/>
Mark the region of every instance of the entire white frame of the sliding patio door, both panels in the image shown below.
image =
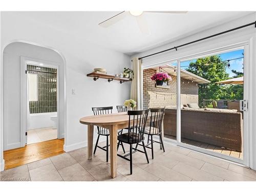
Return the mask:
<path id="1" fill-rule="evenodd" d="M 148 66 L 143 66 L 142 65 L 142 70 L 145 69 L 150 69 L 153 67 L 159 67 L 161 65 L 168 65 L 168 63 L 174 63 L 177 62 L 177 137 L 176 140 L 173 139 L 168 139 L 168 138 L 164 138 L 165 141 L 170 142 L 172 144 L 176 144 L 182 147 L 186 147 L 189 148 L 191 150 L 194 151 L 198 151 L 204 154 L 208 154 L 211 156 L 215 156 L 218 158 L 222 158 L 222 159 L 226 159 L 232 162 L 237 162 L 240 164 L 243 164 L 245 166 L 249 166 L 249 154 L 252 154 L 251 152 L 251 147 L 250 147 L 250 142 L 251 142 L 251 138 L 249 138 L 249 133 L 251 133 L 251 127 L 249 127 L 249 120 L 251 121 L 251 119 L 249 119 L 249 110 L 250 108 L 248 108 L 248 110 L 246 112 L 244 112 L 244 122 L 243 122 L 243 159 L 239 159 L 239 158 L 235 158 L 235 157 L 231 157 L 231 156 L 227 156 L 227 155 L 223 155 L 223 154 L 219 154 L 216 152 L 211 152 L 211 151 L 207 151 L 204 148 L 200 148 L 197 146 L 193 146 L 193 145 L 189 145 L 186 143 L 182 143 L 181 142 L 181 98 L 180 98 L 180 93 L 181 93 L 181 89 L 180 89 L 180 62 L 183 61 L 187 61 L 187 60 L 191 60 L 191 59 L 197 59 L 197 58 L 202 58 L 202 57 L 206 57 L 206 56 L 211 56 L 211 55 L 216 55 L 216 54 L 221 54 L 224 52 L 228 52 L 228 51 L 235 51 L 235 50 L 239 50 L 239 49 L 244 49 L 244 84 L 246 86 L 244 86 L 244 99 L 246 99 L 247 101 L 249 100 L 249 95 L 248 95 L 248 91 L 250 89 L 252 89 L 252 83 L 249 83 L 249 79 L 251 79 L 251 74 L 252 70 L 251 70 L 251 65 L 249 63 L 250 61 L 250 57 L 251 54 L 249 51 L 249 46 L 250 46 L 250 42 L 249 41 L 243 41 L 243 42 L 239 42 L 237 44 L 233 44 L 233 45 L 229 45 L 229 46 L 223 46 L 221 48 L 217 48 L 217 49 L 212 49 L 212 50 L 208 50 L 208 51 L 204 51 L 204 52 L 200 52 L 200 53 L 196 53 L 196 54 L 191 54 L 191 55 L 187 55 L 184 57 L 178 57 L 175 59 L 171 59 L 171 60 L 166 60 L 163 62 L 157 62 L 154 63 L 153 65 L 148 65 Z M 142 98 L 143 99 L 143 98 Z M 248 106 L 250 106 L 250 103 L 248 104 Z"/>

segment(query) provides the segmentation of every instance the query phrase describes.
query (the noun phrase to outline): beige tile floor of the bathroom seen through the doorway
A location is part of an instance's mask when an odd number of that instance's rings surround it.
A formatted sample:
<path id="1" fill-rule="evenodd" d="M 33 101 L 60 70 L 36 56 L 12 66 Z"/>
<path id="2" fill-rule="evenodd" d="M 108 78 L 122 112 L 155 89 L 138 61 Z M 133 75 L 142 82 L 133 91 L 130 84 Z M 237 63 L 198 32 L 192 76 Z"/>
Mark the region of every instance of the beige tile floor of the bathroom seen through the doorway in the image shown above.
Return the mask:
<path id="1" fill-rule="evenodd" d="M 57 129 L 53 129 L 53 127 L 28 130 L 27 144 L 49 141 L 52 139 L 57 139 Z"/>

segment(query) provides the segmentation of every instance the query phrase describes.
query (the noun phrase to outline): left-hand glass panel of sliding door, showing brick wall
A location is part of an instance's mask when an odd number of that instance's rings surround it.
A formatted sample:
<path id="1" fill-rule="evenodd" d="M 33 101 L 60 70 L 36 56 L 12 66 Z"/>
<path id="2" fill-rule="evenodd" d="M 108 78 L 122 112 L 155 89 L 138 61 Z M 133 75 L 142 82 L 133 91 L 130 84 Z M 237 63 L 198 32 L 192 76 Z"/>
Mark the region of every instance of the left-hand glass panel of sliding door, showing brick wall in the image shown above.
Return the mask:
<path id="1" fill-rule="evenodd" d="M 159 84 L 152 80 L 156 73 L 170 76 L 168 82 Z M 143 70 L 143 108 L 165 107 L 164 138 L 176 141 L 177 138 L 177 62 Z"/>

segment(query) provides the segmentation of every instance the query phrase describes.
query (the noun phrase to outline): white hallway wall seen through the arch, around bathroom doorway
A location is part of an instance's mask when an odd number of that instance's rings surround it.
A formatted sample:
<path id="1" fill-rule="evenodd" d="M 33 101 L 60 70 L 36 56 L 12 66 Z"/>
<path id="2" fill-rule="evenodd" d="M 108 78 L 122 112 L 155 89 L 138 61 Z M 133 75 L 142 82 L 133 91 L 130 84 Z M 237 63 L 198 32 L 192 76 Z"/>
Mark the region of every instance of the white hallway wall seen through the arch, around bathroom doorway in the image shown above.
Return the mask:
<path id="1" fill-rule="evenodd" d="M 23 42 L 14 42 L 4 49 L 3 62 L 3 99 L 4 99 L 4 150 L 22 146 L 20 136 L 20 56 L 52 61 L 59 66 L 58 93 L 63 94 L 63 61 L 58 53 Z M 25 73 L 25 72 L 24 72 Z M 59 111 L 63 111 L 63 101 L 59 100 Z M 63 115 L 60 117 L 63 119 Z M 59 123 L 59 132 L 64 133 L 63 122 Z"/>

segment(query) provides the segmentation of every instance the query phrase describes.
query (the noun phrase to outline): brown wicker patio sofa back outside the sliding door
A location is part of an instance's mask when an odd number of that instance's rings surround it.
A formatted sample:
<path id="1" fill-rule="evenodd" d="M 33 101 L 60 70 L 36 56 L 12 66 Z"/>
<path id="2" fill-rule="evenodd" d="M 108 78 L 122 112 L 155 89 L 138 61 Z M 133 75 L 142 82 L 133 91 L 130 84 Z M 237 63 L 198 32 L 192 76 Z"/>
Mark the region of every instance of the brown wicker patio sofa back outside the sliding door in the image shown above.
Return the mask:
<path id="1" fill-rule="evenodd" d="M 164 134 L 176 136 L 176 109 L 166 109 Z M 181 137 L 242 151 L 242 113 L 181 110 Z"/>

